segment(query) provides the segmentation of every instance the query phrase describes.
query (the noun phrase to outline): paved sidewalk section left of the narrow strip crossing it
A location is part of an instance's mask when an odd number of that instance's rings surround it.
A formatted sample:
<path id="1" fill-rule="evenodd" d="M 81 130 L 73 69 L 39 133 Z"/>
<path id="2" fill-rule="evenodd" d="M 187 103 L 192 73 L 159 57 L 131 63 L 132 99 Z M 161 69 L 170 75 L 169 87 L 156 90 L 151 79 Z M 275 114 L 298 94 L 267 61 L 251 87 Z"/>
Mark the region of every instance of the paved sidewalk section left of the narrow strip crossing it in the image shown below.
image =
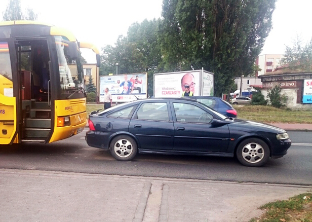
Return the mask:
<path id="1" fill-rule="evenodd" d="M 0 171 L 0 221 L 142 221 L 150 182 Z"/>

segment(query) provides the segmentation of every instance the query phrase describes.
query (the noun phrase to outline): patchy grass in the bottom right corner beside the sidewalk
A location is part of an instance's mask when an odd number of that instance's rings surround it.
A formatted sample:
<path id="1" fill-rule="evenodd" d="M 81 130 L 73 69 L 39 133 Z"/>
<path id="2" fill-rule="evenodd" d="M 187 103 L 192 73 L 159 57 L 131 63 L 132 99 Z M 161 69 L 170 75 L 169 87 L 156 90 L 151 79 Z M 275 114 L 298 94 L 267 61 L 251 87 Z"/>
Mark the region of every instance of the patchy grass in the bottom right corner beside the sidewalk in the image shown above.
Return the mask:
<path id="1" fill-rule="evenodd" d="M 312 222 L 312 193 L 300 194 L 282 200 L 262 205 L 265 210 L 260 217 L 252 218 L 250 222 Z"/>

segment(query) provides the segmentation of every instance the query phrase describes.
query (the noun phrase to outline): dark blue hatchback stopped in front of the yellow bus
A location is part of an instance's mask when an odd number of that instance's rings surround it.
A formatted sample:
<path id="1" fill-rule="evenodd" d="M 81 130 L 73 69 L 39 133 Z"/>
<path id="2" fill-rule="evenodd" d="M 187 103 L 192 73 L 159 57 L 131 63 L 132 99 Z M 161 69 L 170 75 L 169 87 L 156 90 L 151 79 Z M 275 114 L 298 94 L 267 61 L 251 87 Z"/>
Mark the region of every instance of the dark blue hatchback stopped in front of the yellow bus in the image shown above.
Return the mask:
<path id="1" fill-rule="evenodd" d="M 233 120 L 193 99 L 136 100 L 89 116 L 86 140 L 110 150 L 117 160 L 142 154 L 234 157 L 261 166 L 286 155 L 291 140 L 285 130 Z"/>

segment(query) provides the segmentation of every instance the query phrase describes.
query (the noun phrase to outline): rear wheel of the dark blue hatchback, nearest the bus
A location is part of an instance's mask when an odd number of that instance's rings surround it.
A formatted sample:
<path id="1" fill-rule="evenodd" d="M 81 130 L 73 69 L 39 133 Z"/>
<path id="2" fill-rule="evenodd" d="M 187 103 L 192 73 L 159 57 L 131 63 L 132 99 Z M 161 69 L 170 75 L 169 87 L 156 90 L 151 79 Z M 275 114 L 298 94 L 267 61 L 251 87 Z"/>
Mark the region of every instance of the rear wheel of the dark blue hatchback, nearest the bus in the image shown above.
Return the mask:
<path id="1" fill-rule="evenodd" d="M 130 161 L 135 157 L 138 146 L 131 136 L 120 135 L 111 140 L 109 150 L 116 160 Z"/>

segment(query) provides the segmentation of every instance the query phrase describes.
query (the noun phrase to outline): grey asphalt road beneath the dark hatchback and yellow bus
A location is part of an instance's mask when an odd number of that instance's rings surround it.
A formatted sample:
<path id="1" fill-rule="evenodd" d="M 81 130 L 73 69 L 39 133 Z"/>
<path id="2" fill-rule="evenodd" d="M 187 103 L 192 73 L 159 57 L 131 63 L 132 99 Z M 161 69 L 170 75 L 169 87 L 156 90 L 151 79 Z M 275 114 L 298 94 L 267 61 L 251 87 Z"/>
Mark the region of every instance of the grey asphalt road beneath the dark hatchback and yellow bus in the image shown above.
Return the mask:
<path id="1" fill-rule="evenodd" d="M 245 167 L 235 158 L 142 155 L 119 162 L 110 153 L 89 147 L 84 132 L 52 144 L 0 146 L 0 168 L 35 169 L 238 182 L 312 184 L 312 132 L 289 132 L 286 156 L 263 167 Z"/>

